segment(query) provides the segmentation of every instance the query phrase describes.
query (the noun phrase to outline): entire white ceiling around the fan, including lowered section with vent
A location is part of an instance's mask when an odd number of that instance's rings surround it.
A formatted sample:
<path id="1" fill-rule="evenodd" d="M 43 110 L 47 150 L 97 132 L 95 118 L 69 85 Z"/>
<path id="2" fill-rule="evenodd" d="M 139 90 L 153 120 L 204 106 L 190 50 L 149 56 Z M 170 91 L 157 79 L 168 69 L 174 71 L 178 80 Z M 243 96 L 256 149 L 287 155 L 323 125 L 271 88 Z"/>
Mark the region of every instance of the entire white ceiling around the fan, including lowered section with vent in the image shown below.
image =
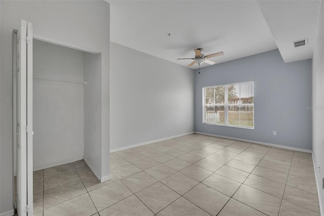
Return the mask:
<path id="1" fill-rule="evenodd" d="M 210 59 L 217 63 L 277 47 L 287 62 L 312 57 L 319 1 L 107 2 L 112 42 L 184 66 L 192 60 L 177 58 L 192 58 L 193 49 L 199 47 L 205 55 L 223 51 L 224 56 Z M 307 10 L 301 11 L 303 8 Z M 294 9 L 298 12 L 290 12 Z M 300 21 L 306 25 L 299 25 Z M 310 43 L 304 49 L 307 51 L 298 53 L 291 42 L 303 38 L 309 38 Z"/>

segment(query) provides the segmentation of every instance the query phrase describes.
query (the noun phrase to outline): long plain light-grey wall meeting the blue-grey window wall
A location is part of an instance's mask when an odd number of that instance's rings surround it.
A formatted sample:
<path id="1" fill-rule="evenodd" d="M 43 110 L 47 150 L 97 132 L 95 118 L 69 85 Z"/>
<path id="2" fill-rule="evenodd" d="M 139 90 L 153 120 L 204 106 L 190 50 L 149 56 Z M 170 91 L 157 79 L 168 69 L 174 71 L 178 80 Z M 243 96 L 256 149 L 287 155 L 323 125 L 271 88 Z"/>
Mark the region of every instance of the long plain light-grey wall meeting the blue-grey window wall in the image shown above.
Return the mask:
<path id="1" fill-rule="evenodd" d="M 193 70 L 112 42 L 110 49 L 110 149 L 192 132 Z"/>

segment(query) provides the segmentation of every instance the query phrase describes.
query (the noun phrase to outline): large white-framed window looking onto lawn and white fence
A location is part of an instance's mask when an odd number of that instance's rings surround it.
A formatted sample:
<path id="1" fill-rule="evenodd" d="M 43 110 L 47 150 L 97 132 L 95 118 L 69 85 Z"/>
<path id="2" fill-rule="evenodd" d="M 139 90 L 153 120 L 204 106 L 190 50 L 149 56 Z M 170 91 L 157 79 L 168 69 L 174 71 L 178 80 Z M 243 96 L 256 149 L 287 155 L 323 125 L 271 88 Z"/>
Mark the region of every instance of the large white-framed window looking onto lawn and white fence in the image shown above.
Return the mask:
<path id="1" fill-rule="evenodd" d="M 254 128 L 254 82 L 203 88 L 204 124 Z"/>

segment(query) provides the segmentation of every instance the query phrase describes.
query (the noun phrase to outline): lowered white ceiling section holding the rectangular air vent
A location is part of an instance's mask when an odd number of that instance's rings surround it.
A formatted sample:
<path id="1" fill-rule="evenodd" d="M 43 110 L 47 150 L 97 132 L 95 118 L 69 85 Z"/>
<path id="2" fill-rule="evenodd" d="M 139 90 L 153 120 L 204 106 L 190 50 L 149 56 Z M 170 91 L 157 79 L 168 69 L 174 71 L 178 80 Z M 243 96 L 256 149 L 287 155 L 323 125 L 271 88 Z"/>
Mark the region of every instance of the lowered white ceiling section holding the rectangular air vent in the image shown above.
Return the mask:
<path id="1" fill-rule="evenodd" d="M 260 1 L 259 6 L 286 63 L 312 58 L 319 1 Z M 307 46 L 293 46 L 305 38 Z"/>

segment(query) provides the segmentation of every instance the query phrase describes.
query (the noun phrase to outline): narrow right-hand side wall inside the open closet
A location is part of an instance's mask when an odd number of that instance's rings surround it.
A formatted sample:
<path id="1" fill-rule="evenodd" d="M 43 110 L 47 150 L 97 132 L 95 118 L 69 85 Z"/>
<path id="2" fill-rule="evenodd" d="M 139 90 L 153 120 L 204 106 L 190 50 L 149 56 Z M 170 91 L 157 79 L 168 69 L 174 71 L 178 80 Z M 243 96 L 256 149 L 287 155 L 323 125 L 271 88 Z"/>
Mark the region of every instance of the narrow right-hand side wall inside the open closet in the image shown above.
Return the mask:
<path id="1" fill-rule="evenodd" d="M 84 160 L 97 178 L 101 178 L 101 56 L 84 54 Z"/>

